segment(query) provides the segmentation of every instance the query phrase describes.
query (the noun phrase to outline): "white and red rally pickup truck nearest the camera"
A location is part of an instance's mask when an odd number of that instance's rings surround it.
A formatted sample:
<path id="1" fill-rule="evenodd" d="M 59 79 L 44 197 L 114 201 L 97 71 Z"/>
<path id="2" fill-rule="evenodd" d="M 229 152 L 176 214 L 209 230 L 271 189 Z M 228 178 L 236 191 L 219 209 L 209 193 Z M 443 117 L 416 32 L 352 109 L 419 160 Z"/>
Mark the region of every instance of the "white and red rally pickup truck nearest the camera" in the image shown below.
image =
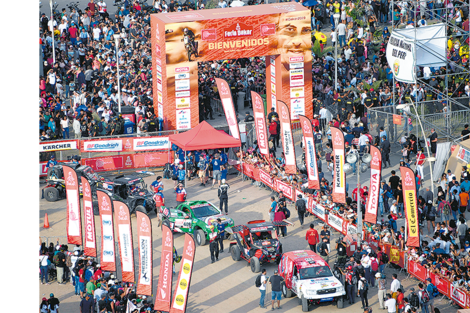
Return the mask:
<path id="1" fill-rule="evenodd" d="M 282 294 L 285 298 L 297 295 L 302 312 L 321 302 L 333 301 L 343 308 L 343 284 L 331 272 L 330 266 L 311 250 L 286 252 L 279 263 L 279 275 L 284 278 Z"/>

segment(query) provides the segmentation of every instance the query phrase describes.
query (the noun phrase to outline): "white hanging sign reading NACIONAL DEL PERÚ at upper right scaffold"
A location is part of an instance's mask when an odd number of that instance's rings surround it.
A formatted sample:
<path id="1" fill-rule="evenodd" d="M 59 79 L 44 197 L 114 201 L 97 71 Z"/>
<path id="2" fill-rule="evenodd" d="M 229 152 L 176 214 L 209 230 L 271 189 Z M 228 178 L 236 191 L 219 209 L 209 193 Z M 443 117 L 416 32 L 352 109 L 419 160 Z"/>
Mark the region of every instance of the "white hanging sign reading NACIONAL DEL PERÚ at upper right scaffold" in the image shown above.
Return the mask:
<path id="1" fill-rule="evenodd" d="M 412 39 L 392 32 L 387 44 L 386 57 L 395 79 L 404 83 L 416 83 L 415 44 Z"/>

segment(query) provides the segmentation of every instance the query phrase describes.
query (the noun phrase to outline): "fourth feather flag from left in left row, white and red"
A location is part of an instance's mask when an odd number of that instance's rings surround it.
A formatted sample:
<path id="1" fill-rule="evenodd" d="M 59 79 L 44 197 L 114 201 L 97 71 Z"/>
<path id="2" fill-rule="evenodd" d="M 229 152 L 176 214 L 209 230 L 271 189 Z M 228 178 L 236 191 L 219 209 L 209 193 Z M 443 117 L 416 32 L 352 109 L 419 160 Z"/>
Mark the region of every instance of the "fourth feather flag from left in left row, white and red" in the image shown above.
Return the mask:
<path id="1" fill-rule="evenodd" d="M 113 207 L 121 257 L 122 281 L 134 282 L 134 247 L 129 207 L 121 201 L 113 201 Z"/>

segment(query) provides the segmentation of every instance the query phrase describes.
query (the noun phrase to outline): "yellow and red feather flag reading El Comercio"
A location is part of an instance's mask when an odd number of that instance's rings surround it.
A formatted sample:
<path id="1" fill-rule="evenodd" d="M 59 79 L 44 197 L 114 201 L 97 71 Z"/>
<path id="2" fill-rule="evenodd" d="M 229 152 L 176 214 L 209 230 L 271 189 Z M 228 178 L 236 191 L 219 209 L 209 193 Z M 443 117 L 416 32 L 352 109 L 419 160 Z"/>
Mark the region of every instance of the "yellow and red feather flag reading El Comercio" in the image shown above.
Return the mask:
<path id="1" fill-rule="evenodd" d="M 416 178 L 415 174 L 408 167 L 400 167 L 401 180 L 403 185 L 403 199 L 405 214 L 408 225 L 408 241 L 410 247 L 419 247 L 419 224 L 418 206 L 416 199 Z"/>

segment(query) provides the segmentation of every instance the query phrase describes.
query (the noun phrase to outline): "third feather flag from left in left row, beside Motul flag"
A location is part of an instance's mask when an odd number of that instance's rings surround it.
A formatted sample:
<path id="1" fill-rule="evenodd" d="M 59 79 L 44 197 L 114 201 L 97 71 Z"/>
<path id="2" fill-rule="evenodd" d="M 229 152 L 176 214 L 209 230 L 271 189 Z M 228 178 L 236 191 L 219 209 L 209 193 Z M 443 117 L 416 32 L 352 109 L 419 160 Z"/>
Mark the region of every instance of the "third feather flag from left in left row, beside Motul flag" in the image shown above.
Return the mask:
<path id="1" fill-rule="evenodd" d="M 116 258 L 114 249 L 113 209 L 109 196 L 97 190 L 98 206 L 101 218 L 101 269 L 103 271 L 116 271 Z"/>

